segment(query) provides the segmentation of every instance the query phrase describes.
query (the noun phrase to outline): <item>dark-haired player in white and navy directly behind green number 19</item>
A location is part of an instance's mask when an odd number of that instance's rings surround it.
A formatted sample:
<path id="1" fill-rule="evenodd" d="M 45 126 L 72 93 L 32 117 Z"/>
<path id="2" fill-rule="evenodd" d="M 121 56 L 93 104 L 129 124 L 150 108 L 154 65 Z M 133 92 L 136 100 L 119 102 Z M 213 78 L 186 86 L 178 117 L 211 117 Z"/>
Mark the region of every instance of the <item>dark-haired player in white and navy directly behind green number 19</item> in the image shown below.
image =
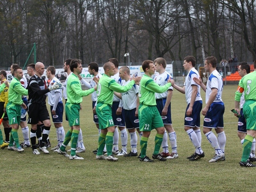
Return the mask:
<path id="1" fill-rule="evenodd" d="M 115 74 L 111 76 L 116 83 L 122 84 L 122 79 L 119 77 L 119 71 L 118 71 L 118 60 L 116 58 L 111 58 L 108 60 L 111 63 L 114 63 L 115 65 Z M 125 129 L 125 122 L 124 122 L 124 111 L 123 111 L 123 101 L 120 100 L 116 95 L 113 97 L 113 103 L 112 103 L 112 117 L 115 124 L 115 133 L 113 137 L 113 154 L 117 154 L 118 156 L 123 156 L 127 154 L 127 141 L 128 141 L 128 134 Z M 119 151 L 118 149 L 118 129 L 120 130 L 120 136 L 121 136 L 121 143 L 122 143 L 122 149 Z"/>

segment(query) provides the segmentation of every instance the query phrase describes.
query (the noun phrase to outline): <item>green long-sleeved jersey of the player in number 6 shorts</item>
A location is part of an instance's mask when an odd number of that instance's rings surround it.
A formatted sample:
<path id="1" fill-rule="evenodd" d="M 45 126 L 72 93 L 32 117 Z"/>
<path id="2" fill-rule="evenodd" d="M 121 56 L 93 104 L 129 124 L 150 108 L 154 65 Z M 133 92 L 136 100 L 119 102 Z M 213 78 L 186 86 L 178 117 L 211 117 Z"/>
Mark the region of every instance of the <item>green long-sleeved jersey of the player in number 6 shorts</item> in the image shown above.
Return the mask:
<path id="1" fill-rule="evenodd" d="M 76 104 L 81 103 L 83 101 L 82 97 L 85 97 L 94 91 L 95 91 L 94 88 L 83 91 L 80 80 L 78 79 L 78 76 L 72 73 L 68 77 L 68 82 L 67 82 L 67 96 L 68 96 L 67 103 L 76 103 Z"/>

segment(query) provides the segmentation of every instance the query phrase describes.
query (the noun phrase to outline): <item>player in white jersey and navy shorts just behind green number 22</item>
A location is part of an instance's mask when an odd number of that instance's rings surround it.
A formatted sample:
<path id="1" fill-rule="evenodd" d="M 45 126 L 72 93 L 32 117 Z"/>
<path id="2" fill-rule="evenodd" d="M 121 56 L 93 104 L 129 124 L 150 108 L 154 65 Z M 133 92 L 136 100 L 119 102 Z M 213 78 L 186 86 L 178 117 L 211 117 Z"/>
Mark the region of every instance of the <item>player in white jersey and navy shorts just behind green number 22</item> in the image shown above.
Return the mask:
<path id="1" fill-rule="evenodd" d="M 156 58 L 154 60 L 156 72 L 158 72 L 154 76 L 154 82 L 159 86 L 163 86 L 167 83 L 169 77 L 171 75 L 165 70 L 166 68 L 166 60 L 164 58 Z M 168 150 L 168 142 L 167 142 L 167 133 L 164 131 L 164 137 L 162 142 L 163 152 L 160 153 L 166 159 L 174 159 L 178 158 L 177 152 L 177 138 L 176 133 L 172 127 L 172 115 L 171 115 L 171 99 L 172 99 L 172 86 L 166 92 L 163 93 L 155 93 L 156 97 L 156 108 L 159 111 L 159 114 L 163 120 L 164 128 L 168 132 L 170 143 L 172 146 L 172 153 L 169 153 Z"/>

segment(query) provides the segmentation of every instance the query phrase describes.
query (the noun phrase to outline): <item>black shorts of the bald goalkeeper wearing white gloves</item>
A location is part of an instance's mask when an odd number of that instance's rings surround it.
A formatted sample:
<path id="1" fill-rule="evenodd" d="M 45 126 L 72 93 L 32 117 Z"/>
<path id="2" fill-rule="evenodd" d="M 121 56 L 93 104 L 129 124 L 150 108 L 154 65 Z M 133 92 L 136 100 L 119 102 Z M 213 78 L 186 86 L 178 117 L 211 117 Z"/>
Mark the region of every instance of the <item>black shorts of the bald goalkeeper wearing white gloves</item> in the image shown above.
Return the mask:
<path id="1" fill-rule="evenodd" d="M 28 103 L 28 124 L 37 124 L 38 121 L 50 120 L 46 105 Z"/>

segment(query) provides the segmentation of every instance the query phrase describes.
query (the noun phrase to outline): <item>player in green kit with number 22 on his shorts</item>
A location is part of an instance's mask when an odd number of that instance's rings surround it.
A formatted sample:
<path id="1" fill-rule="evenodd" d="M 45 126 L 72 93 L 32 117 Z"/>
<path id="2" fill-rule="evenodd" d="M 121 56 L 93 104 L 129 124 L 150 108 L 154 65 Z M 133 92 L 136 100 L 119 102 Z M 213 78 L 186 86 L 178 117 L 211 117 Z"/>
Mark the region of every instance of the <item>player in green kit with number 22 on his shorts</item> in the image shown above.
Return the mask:
<path id="1" fill-rule="evenodd" d="M 140 81 L 140 90 L 139 90 L 139 120 L 140 120 L 140 131 L 142 131 L 142 137 L 140 139 L 140 161 L 153 162 L 148 156 L 146 156 L 146 150 L 148 145 L 148 137 L 151 133 L 151 130 L 156 129 L 155 137 L 155 149 L 152 155 L 153 159 L 158 159 L 160 161 L 166 161 L 164 157 L 159 153 L 161 143 L 164 136 L 164 124 L 163 120 L 159 114 L 159 111 L 156 108 L 156 98 L 155 93 L 166 92 L 174 81 L 169 79 L 167 84 L 159 86 L 151 78 L 155 74 L 156 67 L 154 62 L 151 60 L 145 60 L 142 63 L 142 69 L 144 75 Z"/>

